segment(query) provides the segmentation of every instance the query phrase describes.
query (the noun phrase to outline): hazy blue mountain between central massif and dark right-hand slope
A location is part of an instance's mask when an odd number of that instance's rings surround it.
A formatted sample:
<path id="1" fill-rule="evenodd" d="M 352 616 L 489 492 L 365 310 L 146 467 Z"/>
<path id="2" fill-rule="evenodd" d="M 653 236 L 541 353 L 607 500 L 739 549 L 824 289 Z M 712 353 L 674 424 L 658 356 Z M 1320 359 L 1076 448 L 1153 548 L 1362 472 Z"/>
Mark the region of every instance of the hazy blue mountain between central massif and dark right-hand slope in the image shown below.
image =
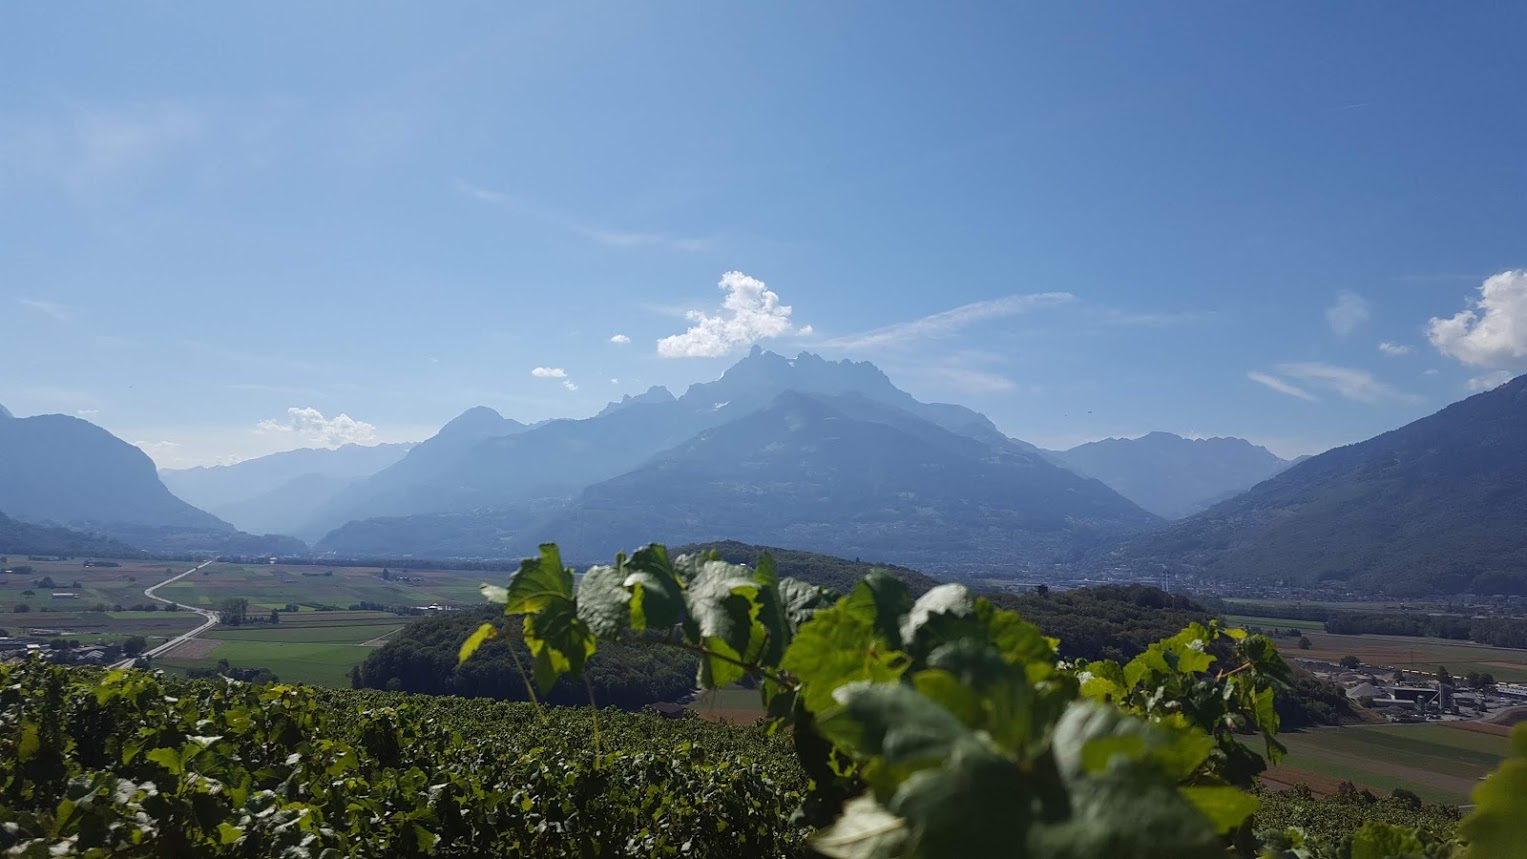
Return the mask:
<path id="1" fill-rule="evenodd" d="M 1289 467 L 1243 438 L 1188 439 L 1167 432 L 1106 438 L 1049 455 L 1167 519 L 1191 516 Z"/>

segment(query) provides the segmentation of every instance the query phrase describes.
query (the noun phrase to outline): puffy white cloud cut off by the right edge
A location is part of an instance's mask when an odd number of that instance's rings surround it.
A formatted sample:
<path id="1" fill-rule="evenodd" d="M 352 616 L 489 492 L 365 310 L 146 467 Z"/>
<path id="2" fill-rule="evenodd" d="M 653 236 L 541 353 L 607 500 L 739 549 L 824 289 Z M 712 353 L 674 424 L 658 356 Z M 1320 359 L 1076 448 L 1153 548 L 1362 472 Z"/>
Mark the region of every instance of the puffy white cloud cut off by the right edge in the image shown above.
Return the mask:
<path id="1" fill-rule="evenodd" d="M 1437 351 L 1471 366 L 1527 369 L 1527 270 L 1501 272 L 1480 298 L 1426 328 Z"/>

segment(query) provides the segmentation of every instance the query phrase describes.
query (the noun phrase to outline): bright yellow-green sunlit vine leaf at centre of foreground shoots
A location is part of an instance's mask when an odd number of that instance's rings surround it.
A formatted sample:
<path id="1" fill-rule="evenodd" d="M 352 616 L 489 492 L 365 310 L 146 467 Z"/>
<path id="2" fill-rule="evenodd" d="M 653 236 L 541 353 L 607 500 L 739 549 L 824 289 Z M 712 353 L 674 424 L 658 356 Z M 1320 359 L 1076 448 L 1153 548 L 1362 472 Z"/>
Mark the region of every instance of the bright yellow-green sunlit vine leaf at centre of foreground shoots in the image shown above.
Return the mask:
<path id="1" fill-rule="evenodd" d="M 802 680 L 800 694 L 811 713 L 835 706 L 832 690 L 857 680 L 895 680 L 907 664 L 870 618 L 849 610 L 847 598 L 802 624 L 780 659 L 780 667 Z"/>

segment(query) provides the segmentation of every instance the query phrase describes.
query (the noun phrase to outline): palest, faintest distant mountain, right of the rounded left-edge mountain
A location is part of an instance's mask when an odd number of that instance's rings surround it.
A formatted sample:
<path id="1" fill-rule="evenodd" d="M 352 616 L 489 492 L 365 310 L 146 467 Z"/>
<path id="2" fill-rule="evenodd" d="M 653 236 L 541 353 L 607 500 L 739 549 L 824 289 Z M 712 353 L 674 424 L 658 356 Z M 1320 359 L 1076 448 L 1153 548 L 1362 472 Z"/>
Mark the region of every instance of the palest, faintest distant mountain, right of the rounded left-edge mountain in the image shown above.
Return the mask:
<path id="1" fill-rule="evenodd" d="M 197 468 L 166 468 L 159 479 L 180 499 L 215 511 L 267 494 L 287 482 L 318 475 L 324 478 L 366 478 L 397 462 L 408 453 L 408 444 L 360 446 L 337 449 L 304 447 L 246 459 L 234 465 L 203 465 Z M 229 519 L 229 522 L 234 522 Z M 243 523 L 234 522 L 240 528 Z"/>

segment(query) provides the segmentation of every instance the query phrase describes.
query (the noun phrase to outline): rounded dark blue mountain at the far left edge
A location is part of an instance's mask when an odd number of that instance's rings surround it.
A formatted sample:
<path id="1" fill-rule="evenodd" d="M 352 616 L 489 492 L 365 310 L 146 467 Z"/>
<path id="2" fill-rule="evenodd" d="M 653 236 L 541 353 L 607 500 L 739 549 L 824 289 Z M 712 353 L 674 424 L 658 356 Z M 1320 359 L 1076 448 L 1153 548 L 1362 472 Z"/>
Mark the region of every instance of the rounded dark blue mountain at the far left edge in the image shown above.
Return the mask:
<path id="1" fill-rule="evenodd" d="M 295 540 L 241 534 L 191 507 L 165 488 L 147 453 L 66 415 L 0 420 L 0 510 L 150 551 L 305 551 Z"/>

